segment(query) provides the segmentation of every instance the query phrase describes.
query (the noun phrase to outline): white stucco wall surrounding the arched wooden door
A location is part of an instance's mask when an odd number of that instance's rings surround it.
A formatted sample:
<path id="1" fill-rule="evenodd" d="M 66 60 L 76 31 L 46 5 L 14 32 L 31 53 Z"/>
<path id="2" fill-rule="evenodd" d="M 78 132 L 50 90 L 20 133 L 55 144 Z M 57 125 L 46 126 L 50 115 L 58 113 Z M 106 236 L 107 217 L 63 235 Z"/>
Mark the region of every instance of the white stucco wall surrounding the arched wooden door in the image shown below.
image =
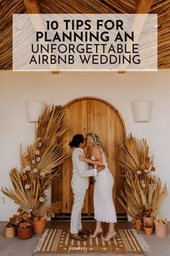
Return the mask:
<path id="1" fill-rule="evenodd" d="M 122 114 L 127 132 L 146 138 L 154 154 L 156 174 L 170 191 L 170 70 L 158 72 L 0 72 L 0 187 L 11 186 L 9 170 L 19 167 L 19 145 L 34 140 L 34 124 L 27 122 L 24 103 L 31 100 L 65 104 L 81 96 L 94 96 L 112 103 Z M 151 122 L 135 123 L 131 102 L 151 100 Z M 0 197 L 4 197 L 0 192 Z M 5 197 L 0 205 L 0 221 L 17 210 Z M 170 196 L 160 213 L 170 221 Z"/>

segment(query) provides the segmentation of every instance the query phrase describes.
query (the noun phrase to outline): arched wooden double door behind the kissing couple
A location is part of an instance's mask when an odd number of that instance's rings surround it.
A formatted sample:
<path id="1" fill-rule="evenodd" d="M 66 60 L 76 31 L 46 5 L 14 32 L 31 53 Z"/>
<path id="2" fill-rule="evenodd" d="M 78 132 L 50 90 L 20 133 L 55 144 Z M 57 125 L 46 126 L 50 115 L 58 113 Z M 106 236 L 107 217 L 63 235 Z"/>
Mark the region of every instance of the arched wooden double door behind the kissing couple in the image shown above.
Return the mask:
<path id="1" fill-rule="evenodd" d="M 119 192 L 124 187 L 124 180 L 117 157 L 120 153 L 118 142 L 125 137 L 125 125 L 122 118 L 111 104 L 98 98 L 78 98 L 66 105 L 64 121 L 68 124 L 69 132 L 63 138 L 63 150 L 70 155 L 68 161 L 63 164 L 63 172 L 58 182 L 53 186 L 53 202 L 62 202 L 61 213 L 71 213 L 73 204 L 73 193 L 71 189 L 72 163 L 68 143 L 73 135 L 81 133 L 86 135 L 94 132 L 99 135 L 104 146 L 109 152 L 109 169 L 115 179 L 113 198 L 117 213 L 125 213 L 125 210 L 117 200 Z M 83 213 L 94 213 L 93 189 L 94 182 L 90 179 L 89 189 L 86 193 Z"/>

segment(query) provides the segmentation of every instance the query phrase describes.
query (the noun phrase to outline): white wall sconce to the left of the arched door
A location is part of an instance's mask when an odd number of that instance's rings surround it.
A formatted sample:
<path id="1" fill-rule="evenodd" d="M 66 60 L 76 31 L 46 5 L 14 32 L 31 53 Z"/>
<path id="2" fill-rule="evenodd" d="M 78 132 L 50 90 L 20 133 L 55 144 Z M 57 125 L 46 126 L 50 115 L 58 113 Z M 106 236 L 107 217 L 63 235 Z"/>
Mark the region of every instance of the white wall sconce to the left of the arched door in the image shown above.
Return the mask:
<path id="1" fill-rule="evenodd" d="M 27 121 L 36 122 L 47 104 L 42 101 L 27 101 L 25 103 Z"/>

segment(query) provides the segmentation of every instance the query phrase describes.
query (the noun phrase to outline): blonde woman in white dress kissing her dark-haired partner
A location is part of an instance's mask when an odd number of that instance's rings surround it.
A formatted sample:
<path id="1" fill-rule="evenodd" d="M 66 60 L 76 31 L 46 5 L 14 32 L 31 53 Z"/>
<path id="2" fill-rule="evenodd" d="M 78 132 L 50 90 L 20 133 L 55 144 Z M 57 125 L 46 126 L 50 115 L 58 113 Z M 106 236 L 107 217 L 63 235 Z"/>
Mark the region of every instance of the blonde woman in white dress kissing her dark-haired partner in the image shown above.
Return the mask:
<path id="1" fill-rule="evenodd" d="M 96 237 L 99 236 L 99 234 L 102 234 L 103 230 L 101 223 L 107 222 L 109 223 L 109 231 L 107 236 L 104 237 L 104 241 L 109 241 L 115 236 L 115 223 L 117 222 L 115 205 L 112 199 L 114 180 L 108 168 L 106 150 L 102 145 L 102 142 L 100 142 L 99 137 L 94 133 L 88 133 L 86 137 L 87 145 L 92 148 L 93 156 L 89 159 L 86 158 L 85 155 L 80 155 L 79 159 L 94 166 L 105 166 L 104 170 L 99 172 L 95 177 L 94 218 L 97 220 L 97 227 L 91 237 Z"/>

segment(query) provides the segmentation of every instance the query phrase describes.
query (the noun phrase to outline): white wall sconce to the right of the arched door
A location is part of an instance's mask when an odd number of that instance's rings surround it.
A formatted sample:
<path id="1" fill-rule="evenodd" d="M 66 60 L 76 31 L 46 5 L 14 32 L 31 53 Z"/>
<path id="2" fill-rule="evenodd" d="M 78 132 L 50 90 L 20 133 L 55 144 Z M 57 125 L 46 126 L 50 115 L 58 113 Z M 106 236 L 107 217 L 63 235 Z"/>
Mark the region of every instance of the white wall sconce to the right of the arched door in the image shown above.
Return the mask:
<path id="1" fill-rule="evenodd" d="M 134 121 L 151 121 L 151 101 L 133 101 L 132 110 Z"/>

